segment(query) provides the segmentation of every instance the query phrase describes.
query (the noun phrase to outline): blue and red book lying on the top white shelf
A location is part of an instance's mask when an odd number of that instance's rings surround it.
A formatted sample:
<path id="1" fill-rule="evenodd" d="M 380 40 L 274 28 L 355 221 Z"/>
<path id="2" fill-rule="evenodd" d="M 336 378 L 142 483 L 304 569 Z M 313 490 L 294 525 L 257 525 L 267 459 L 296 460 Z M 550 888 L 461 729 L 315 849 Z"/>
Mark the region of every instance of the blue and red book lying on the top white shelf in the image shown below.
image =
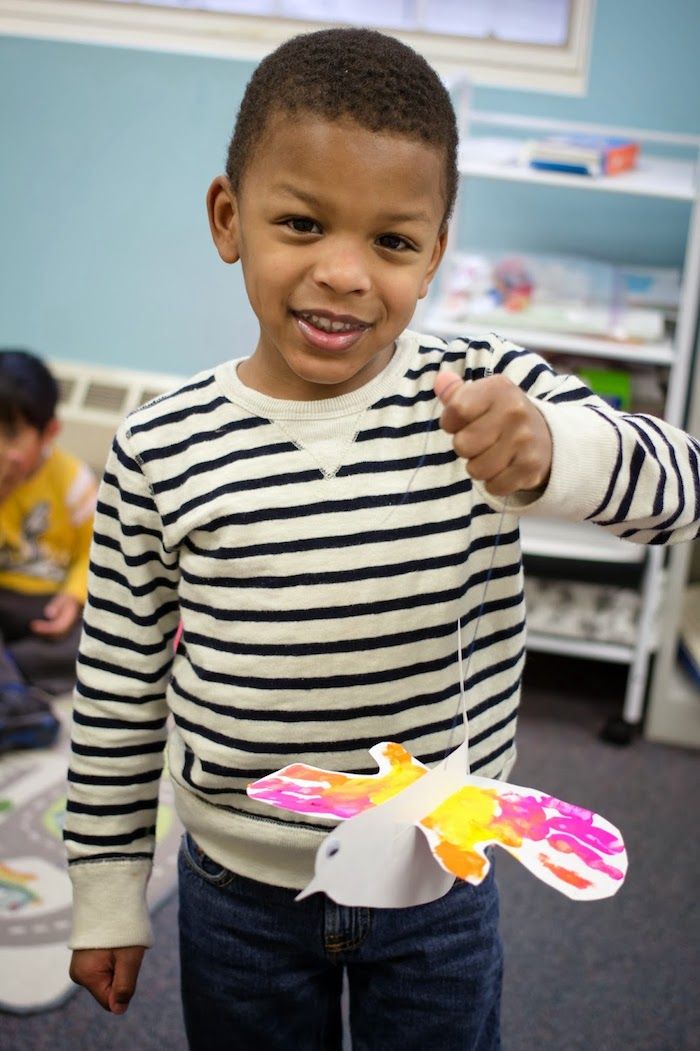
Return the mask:
<path id="1" fill-rule="evenodd" d="M 610 136 L 559 135 L 526 143 L 522 159 L 532 168 L 582 176 L 613 176 L 637 164 L 639 143 Z"/>

